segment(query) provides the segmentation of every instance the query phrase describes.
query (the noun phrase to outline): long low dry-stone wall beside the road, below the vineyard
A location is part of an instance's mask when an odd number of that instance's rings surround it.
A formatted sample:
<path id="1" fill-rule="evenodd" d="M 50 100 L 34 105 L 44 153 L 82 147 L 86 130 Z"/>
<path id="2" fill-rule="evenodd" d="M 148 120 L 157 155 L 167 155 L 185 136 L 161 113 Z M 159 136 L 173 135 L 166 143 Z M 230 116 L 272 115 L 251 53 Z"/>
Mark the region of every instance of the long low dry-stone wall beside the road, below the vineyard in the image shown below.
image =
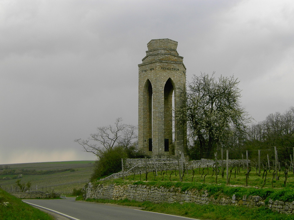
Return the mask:
<path id="1" fill-rule="evenodd" d="M 280 213 L 294 213 L 294 201 L 282 202 L 269 200 L 268 204 L 260 196 L 243 196 L 237 198 L 235 195 L 227 198 L 214 199 L 207 192 L 199 193 L 197 190 L 187 190 L 181 192 L 180 188 L 153 187 L 146 185 L 98 185 L 93 187 L 92 183 L 88 184 L 84 198 L 92 199 L 129 199 L 136 201 L 150 201 L 155 203 L 161 202 L 193 202 L 196 204 L 218 204 L 218 205 L 243 205 L 248 207 L 265 206 L 273 211 Z"/>

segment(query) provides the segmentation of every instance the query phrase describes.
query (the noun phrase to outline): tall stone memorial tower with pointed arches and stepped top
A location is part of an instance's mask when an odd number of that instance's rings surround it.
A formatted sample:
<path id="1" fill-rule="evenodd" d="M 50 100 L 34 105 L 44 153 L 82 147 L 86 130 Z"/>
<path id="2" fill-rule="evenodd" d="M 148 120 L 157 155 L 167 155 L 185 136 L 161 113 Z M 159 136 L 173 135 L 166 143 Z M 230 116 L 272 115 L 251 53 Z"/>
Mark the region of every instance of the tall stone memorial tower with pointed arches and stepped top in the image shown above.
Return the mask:
<path id="1" fill-rule="evenodd" d="M 187 129 L 173 118 L 173 105 L 176 112 L 181 106 L 179 95 L 186 91 L 186 67 L 177 46 L 170 39 L 151 40 L 138 65 L 138 145 L 155 158 L 187 153 Z"/>

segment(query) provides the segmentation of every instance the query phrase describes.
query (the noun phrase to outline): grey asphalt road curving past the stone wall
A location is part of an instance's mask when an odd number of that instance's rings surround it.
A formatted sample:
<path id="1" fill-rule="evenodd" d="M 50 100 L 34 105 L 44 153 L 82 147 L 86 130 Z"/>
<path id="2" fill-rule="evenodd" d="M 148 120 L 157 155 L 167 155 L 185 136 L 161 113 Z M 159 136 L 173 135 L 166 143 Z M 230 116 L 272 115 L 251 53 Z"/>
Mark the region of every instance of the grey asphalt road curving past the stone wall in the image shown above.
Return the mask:
<path id="1" fill-rule="evenodd" d="M 65 214 L 73 220 L 184 220 L 185 217 L 141 211 L 134 208 L 110 206 L 100 203 L 79 202 L 68 199 L 24 199 L 35 204 Z"/>

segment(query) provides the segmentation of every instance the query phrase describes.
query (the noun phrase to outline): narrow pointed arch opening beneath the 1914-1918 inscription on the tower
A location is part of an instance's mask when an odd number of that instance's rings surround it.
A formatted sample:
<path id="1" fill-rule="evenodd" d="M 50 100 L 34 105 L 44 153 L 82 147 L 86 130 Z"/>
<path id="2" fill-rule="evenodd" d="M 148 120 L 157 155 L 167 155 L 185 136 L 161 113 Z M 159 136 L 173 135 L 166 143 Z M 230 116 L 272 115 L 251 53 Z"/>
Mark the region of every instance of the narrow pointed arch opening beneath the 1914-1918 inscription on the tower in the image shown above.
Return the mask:
<path id="1" fill-rule="evenodd" d="M 145 84 L 145 91 L 147 93 L 146 100 L 146 140 L 148 140 L 148 151 L 152 151 L 152 85 L 149 79 Z"/>

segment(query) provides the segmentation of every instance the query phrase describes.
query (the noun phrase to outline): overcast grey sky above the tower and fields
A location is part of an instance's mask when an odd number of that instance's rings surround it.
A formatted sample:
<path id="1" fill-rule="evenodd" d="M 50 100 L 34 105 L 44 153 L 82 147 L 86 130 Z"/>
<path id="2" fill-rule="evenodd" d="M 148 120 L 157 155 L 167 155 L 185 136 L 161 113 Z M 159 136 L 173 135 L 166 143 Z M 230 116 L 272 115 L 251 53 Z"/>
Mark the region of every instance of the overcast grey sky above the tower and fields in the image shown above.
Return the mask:
<path id="1" fill-rule="evenodd" d="M 160 38 L 188 82 L 238 78 L 256 122 L 294 105 L 293 0 L 0 0 L 0 164 L 95 160 L 74 139 L 138 124 L 138 64 Z"/>

